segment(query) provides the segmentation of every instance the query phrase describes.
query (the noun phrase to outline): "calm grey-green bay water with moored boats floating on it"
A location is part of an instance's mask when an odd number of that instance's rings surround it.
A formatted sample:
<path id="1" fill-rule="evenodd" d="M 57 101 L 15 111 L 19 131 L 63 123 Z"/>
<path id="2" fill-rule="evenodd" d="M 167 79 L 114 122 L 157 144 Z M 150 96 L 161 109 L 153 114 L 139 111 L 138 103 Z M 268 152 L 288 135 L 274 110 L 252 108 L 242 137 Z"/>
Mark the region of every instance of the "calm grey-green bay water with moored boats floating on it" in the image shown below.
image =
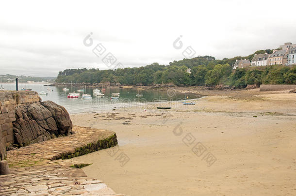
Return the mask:
<path id="1" fill-rule="evenodd" d="M 80 98 L 67 98 L 69 92 L 62 89 L 64 87 L 47 87 L 45 84 L 18 84 L 18 90 L 22 88 L 32 89 L 37 91 L 45 91 L 48 95 L 39 95 L 43 101 L 51 100 L 61 106 L 64 106 L 69 113 L 80 112 L 98 112 L 104 109 L 111 109 L 114 107 L 125 106 L 139 106 L 151 102 L 164 102 L 184 100 L 184 95 L 176 93 L 174 90 L 160 91 L 160 90 L 134 90 L 134 89 L 109 89 L 106 88 L 105 96 L 100 98 L 93 95 L 94 88 L 86 88 L 86 93 L 92 95 L 91 100 L 83 100 Z M 2 86 L 6 90 L 16 90 L 16 84 L 3 83 Z M 48 90 L 50 88 L 50 90 Z M 68 87 L 70 89 L 70 87 Z M 81 88 L 82 89 L 82 88 Z M 53 90 L 53 91 L 51 91 Z M 72 91 L 78 88 L 72 87 Z M 101 89 L 99 89 L 101 90 Z M 118 100 L 110 99 L 112 92 L 119 92 Z M 136 97 L 136 94 L 143 94 L 143 97 Z M 193 98 L 193 97 L 192 97 Z"/>

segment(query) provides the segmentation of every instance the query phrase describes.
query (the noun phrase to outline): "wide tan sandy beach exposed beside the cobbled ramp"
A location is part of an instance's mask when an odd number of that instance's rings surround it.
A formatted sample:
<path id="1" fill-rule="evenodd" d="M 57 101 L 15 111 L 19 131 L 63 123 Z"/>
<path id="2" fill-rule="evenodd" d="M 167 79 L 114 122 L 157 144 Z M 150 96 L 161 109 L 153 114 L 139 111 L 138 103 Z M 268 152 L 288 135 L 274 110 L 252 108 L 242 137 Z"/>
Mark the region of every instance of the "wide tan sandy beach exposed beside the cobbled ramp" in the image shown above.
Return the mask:
<path id="1" fill-rule="evenodd" d="M 295 196 L 296 93 L 253 94 L 71 115 L 76 125 L 115 131 L 119 145 L 74 159 L 131 196 Z"/>

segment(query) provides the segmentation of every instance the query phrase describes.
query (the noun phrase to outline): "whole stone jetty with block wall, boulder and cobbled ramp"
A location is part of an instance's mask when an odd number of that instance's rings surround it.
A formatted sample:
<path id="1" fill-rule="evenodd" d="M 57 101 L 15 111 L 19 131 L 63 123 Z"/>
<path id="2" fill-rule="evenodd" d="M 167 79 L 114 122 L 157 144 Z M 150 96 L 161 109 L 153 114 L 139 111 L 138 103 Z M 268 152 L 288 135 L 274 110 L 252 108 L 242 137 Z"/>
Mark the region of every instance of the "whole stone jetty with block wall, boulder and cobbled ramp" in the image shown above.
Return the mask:
<path id="1" fill-rule="evenodd" d="M 116 145 L 115 132 L 73 126 L 37 92 L 0 92 L 0 196 L 123 196 L 71 160 Z"/>

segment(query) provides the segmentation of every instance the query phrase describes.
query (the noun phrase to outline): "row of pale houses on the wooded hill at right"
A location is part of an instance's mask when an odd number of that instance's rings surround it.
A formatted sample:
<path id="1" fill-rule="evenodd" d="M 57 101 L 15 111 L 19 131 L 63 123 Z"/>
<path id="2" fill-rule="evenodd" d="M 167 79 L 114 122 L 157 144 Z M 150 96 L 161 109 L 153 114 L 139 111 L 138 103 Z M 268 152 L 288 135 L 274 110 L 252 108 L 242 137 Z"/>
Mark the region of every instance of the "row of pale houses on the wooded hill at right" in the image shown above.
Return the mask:
<path id="1" fill-rule="evenodd" d="M 280 45 L 280 50 L 273 50 L 272 54 L 255 54 L 250 60 L 236 60 L 233 69 L 249 66 L 293 65 L 296 64 L 296 44 L 290 42 Z"/>

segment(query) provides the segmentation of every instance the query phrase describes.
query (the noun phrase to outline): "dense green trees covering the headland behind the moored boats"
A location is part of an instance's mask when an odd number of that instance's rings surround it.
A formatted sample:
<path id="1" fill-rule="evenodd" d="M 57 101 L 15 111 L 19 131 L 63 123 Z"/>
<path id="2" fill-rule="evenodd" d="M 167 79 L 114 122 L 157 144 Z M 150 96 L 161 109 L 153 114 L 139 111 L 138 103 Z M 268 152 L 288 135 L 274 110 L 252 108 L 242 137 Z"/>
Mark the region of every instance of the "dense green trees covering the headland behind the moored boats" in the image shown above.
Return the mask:
<path id="1" fill-rule="evenodd" d="M 211 56 L 170 62 L 169 65 L 152 63 L 139 68 L 117 70 L 67 69 L 59 72 L 58 83 L 105 83 L 120 85 L 155 85 L 173 83 L 177 86 L 229 85 L 245 88 L 247 85 L 296 84 L 296 65 L 272 65 L 232 70 L 235 60 L 252 59 L 254 55 L 272 53 L 259 50 L 247 57 L 216 60 Z M 191 73 L 186 70 L 191 69 Z"/>

